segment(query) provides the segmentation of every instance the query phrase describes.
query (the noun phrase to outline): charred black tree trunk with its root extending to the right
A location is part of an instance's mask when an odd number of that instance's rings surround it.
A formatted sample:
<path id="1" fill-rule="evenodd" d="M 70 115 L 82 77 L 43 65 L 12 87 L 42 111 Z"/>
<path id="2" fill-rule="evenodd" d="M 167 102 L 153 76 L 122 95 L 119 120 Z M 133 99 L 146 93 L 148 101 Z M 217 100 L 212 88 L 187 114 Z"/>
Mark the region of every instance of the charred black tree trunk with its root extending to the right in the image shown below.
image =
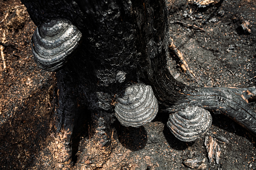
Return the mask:
<path id="1" fill-rule="evenodd" d="M 187 104 L 222 110 L 256 134 L 256 115 L 246 103 L 255 89 L 187 86 L 170 74 L 166 67 L 169 35 L 164 0 L 22 3 L 36 26 L 51 19 L 67 19 L 82 34 L 77 52 L 56 72 L 56 127 L 66 141 L 70 141 L 78 115 L 87 114 L 89 109 L 93 143 L 99 149 L 111 149 L 114 103 L 133 83 L 152 87 L 159 112 L 173 112 Z M 117 77 L 120 71 L 124 81 Z M 70 149 L 67 152 L 71 155 Z M 67 156 L 62 161 L 70 160 Z"/>

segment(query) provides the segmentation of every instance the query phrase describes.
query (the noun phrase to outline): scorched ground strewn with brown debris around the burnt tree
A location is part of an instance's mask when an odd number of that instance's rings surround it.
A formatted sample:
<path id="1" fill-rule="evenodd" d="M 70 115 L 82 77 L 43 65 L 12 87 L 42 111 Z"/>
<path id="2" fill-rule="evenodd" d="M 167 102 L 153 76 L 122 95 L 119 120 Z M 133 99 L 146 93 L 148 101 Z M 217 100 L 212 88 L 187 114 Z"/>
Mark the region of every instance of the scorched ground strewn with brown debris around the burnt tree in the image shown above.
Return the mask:
<path id="1" fill-rule="evenodd" d="M 206 8 L 189 0 L 167 3 L 170 36 L 197 79 L 169 56 L 175 78 L 197 86 L 256 86 L 254 0 L 223 1 Z M 0 0 L 0 7 L 0 42 L 6 45 L 5 62 L 3 56 L 0 62 L 0 169 L 61 168 L 55 151 L 62 146 L 54 140 L 55 74 L 39 69 L 32 59 L 35 25 L 26 8 L 16 0 Z M 242 24 L 247 28 L 242 29 Z M 256 111 L 255 101 L 249 105 Z M 176 139 L 166 127 L 164 113 L 139 128 L 117 123 L 119 137 L 113 142 L 117 147 L 105 162 L 93 159 L 87 150 L 89 137 L 80 130 L 73 141 L 77 151 L 73 169 L 192 169 L 184 163 L 188 158 L 199 160 L 195 169 L 256 169 L 256 138 L 227 116 L 211 114 L 209 132 L 194 142 Z M 220 148 L 219 158 L 213 155 L 212 160 L 206 148 L 210 136 Z"/>

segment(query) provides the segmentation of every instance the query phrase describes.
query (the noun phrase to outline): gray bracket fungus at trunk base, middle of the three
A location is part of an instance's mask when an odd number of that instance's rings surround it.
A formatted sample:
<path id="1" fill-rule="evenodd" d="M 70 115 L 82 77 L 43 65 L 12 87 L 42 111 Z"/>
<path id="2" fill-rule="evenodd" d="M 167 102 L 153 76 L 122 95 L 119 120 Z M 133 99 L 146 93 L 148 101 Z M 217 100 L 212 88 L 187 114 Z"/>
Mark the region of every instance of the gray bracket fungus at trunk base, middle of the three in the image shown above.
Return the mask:
<path id="1" fill-rule="evenodd" d="M 124 126 L 138 127 L 151 122 L 158 112 L 158 103 L 151 86 L 135 84 L 126 88 L 118 99 L 115 115 Z"/>

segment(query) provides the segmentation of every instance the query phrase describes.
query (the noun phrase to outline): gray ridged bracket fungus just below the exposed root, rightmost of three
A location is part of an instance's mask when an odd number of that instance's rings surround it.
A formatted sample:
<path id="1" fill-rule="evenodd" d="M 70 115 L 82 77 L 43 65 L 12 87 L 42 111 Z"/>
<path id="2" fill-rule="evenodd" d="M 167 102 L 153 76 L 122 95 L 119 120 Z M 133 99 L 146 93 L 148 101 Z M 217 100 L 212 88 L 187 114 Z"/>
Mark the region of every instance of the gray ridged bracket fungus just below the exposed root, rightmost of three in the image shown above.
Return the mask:
<path id="1" fill-rule="evenodd" d="M 182 141 L 194 141 L 203 136 L 211 124 L 210 112 L 198 106 L 188 106 L 170 114 L 167 121 L 170 131 Z"/>

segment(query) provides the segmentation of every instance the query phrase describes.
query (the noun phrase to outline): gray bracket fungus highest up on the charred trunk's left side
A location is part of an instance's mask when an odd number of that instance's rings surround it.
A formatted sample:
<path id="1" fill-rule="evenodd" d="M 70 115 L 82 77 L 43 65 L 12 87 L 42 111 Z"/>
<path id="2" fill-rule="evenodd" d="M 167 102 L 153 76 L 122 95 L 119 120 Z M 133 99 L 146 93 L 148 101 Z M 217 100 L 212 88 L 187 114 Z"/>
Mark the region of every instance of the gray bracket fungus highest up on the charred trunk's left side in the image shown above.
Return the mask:
<path id="1" fill-rule="evenodd" d="M 32 52 L 38 66 L 57 71 L 78 47 L 81 32 L 65 19 L 51 20 L 36 28 L 32 37 Z"/>

